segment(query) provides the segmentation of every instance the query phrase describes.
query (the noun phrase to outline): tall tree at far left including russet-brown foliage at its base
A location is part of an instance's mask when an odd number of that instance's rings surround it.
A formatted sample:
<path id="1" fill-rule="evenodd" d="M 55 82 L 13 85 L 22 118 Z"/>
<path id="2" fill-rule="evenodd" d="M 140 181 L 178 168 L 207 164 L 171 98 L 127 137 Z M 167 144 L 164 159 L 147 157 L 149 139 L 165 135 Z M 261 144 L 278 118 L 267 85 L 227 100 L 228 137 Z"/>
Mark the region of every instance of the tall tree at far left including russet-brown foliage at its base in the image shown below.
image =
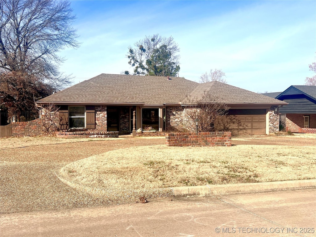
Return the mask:
<path id="1" fill-rule="evenodd" d="M 0 0 L 2 108 L 34 109 L 33 95 L 40 99 L 70 84 L 57 53 L 78 46 L 74 19 L 68 1 Z"/>

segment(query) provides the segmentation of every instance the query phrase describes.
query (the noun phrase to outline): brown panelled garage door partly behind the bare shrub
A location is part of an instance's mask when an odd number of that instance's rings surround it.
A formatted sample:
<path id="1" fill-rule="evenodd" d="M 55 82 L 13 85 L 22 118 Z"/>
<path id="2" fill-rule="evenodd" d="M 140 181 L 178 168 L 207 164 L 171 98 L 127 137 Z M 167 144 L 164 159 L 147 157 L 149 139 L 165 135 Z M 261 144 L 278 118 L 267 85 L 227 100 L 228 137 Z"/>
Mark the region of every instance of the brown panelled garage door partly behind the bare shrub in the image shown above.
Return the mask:
<path id="1" fill-rule="evenodd" d="M 231 124 L 228 125 L 233 136 L 264 135 L 265 115 L 230 115 Z"/>

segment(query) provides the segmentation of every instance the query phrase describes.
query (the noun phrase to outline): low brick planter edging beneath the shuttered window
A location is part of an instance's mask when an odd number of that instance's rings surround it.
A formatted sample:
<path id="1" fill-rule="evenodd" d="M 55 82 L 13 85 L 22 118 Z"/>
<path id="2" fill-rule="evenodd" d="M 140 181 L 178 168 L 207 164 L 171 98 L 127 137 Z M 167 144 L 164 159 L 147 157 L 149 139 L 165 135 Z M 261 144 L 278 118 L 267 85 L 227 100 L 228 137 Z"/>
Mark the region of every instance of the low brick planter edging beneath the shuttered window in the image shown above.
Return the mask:
<path id="1" fill-rule="evenodd" d="M 56 131 L 56 136 L 59 138 L 104 138 L 104 137 L 119 137 L 119 132 L 99 132 L 99 131 Z"/>

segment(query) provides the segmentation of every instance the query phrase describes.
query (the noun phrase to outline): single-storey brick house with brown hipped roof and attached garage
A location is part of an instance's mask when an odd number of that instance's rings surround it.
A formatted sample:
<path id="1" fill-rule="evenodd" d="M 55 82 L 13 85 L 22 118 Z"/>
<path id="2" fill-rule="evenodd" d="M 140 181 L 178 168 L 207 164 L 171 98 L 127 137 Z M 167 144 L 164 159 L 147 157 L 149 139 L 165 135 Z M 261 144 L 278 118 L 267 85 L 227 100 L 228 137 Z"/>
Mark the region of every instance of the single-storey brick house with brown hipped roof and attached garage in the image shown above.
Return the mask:
<path id="1" fill-rule="evenodd" d="M 100 74 L 37 101 L 59 107 L 59 129 L 89 132 L 183 131 L 186 95 L 220 98 L 237 121 L 233 135 L 262 135 L 278 131 L 278 107 L 286 102 L 222 82 L 199 84 L 181 77 Z"/>

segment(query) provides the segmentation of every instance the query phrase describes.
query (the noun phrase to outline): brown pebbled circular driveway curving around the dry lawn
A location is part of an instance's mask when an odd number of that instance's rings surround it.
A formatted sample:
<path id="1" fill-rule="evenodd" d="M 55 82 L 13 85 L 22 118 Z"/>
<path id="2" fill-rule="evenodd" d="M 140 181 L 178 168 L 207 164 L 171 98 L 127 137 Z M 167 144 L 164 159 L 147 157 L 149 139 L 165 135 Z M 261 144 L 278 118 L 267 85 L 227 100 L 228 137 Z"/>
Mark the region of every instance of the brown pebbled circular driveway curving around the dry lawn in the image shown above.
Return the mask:
<path id="1" fill-rule="evenodd" d="M 41 139 L 41 138 L 39 138 Z M 0 141 L 1 142 L 1 141 Z M 56 174 L 72 161 L 110 150 L 164 144 L 161 138 L 48 144 L 2 149 L 0 154 L 0 212 L 88 207 L 109 204 L 61 182 Z M 316 136 L 236 137 L 233 144 L 315 146 Z M 115 201 L 115 200 L 114 200 Z"/>

